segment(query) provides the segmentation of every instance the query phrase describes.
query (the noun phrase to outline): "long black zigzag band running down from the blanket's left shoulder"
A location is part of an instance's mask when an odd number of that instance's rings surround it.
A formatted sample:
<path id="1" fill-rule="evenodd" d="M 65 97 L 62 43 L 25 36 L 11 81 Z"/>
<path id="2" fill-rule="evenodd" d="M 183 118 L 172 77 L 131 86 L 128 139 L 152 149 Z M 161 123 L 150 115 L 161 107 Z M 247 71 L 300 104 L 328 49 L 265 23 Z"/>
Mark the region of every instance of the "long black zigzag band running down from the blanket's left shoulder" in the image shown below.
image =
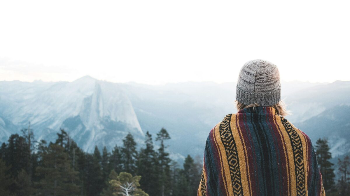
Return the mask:
<path id="1" fill-rule="evenodd" d="M 231 116 L 232 114 L 226 115 L 224 120 L 220 123 L 220 137 L 224 145 L 226 157 L 229 163 L 234 195 L 243 195 L 237 146 L 233 138 L 230 126 Z"/>

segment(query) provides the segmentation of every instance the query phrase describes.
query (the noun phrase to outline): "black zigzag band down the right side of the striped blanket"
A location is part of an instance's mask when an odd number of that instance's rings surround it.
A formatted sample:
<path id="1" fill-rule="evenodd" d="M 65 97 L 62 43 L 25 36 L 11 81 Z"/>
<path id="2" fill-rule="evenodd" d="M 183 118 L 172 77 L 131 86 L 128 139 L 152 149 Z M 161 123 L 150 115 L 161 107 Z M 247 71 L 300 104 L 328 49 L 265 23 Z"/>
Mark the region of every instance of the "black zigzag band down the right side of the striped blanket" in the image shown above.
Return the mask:
<path id="1" fill-rule="evenodd" d="M 296 180 L 296 194 L 299 196 L 306 195 L 305 187 L 305 173 L 304 173 L 304 157 L 303 157 L 303 146 L 301 143 L 300 136 L 293 129 L 292 125 L 287 119 L 282 118 L 282 124 L 286 129 L 290 143 L 292 144 L 292 150 L 294 155 L 294 166 L 295 166 L 295 180 Z"/>

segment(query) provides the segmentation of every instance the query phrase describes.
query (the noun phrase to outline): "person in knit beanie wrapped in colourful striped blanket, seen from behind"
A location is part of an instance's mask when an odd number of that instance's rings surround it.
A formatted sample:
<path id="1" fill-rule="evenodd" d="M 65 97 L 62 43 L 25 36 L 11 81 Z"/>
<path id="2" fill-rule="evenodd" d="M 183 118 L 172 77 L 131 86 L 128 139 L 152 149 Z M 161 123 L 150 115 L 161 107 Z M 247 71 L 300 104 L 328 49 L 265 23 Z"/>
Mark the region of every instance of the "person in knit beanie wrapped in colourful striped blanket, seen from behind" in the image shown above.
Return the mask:
<path id="1" fill-rule="evenodd" d="M 246 62 L 236 104 L 210 130 L 197 195 L 325 195 L 310 138 L 284 118 L 278 67 Z"/>

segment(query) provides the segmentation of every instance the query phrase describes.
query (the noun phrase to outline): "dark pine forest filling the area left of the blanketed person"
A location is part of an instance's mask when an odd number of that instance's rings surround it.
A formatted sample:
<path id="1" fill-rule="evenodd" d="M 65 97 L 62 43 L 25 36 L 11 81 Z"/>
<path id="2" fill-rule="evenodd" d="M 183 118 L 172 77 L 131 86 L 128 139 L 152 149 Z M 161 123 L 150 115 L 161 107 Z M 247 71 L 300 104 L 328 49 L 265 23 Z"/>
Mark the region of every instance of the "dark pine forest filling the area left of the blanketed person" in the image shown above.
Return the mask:
<path id="1" fill-rule="evenodd" d="M 0 195 L 197 195 L 202 163 L 188 155 L 180 167 L 170 159 L 165 128 L 156 134 L 158 149 L 148 131 L 139 150 L 128 133 L 112 152 L 96 146 L 93 153 L 86 153 L 64 129 L 54 143 L 34 138 L 28 127 L 2 143 Z"/>

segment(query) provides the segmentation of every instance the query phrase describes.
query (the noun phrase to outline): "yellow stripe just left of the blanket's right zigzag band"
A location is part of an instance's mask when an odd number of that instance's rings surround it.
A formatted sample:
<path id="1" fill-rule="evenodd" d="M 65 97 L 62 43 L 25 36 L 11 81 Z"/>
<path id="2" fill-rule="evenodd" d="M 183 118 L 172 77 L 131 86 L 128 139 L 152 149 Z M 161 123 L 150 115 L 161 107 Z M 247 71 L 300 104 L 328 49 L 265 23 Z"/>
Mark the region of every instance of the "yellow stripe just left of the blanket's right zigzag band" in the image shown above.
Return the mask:
<path id="1" fill-rule="evenodd" d="M 289 135 L 283 126 L 281 119 L 277 120 L 277 124 L 281 129 L 281 133 L 283 137 L 285 138 L 285 144 L 287 147 L 287 155 L 289 160 L 289 165 L 287 165 L 287 168 L 289 168 L 289 176 L 290 176 L 290 191 L 291 195 L 296 195 L 296 180 L 295 180 L 295 165 L 294 165 L 294 155 L 293 155 L 293 149 L 292 144 L 290 143 Z"/>

